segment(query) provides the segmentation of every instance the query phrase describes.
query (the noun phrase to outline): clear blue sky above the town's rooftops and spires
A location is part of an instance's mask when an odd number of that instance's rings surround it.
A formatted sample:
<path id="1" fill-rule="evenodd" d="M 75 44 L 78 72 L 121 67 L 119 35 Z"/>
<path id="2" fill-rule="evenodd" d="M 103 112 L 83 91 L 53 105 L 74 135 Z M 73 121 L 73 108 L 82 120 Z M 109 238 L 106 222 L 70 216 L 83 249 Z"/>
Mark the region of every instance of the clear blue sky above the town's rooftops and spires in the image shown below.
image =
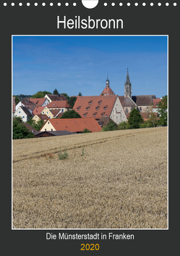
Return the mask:
<path id="1" fill-rule="evenodd" d="M 106 78 L 115 94 L 167 92 L 166 36 L 13 36 L 12 94 L 35 94 L 56 88 L 76 96 L 100 95 Z"/>

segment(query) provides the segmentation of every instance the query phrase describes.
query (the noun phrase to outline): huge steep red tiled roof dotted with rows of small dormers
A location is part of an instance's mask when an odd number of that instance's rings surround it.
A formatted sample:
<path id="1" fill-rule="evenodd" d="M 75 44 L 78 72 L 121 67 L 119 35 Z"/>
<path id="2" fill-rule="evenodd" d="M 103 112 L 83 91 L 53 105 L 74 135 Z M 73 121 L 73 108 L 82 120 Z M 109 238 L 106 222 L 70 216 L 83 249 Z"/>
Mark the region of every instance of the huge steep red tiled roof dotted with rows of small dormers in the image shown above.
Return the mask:
<path id="1" fill-rule="evenodd" d="M 111 96 L 79 96 L 74 104 L 73 110 L 75 110 L 77 113 L 80 114 L 81 117 L 84 117 L 85 112 L 87 114 L 85 115 L 85 118 L 91 118 L 94 117 L 95 119 L 100 119 L 102 117 L 101 113 L 104 112 L 103 116 L 110 116 L 111 111 L 113 110 L 113 105 L 116 102 L 117 95 L 111 95 Z M 100 104 L 98 104 L 100 102 Z M 90 104 L 89 104 L 90 103 Z M 104 107 L 107 105 L 106 110 L 104 110 Z M 89 109 L 87 110 L 87 106 Z M 79 107 L 79 111 L 77 108 Z M 97 107 L 98 110 L 97 110 Z"/>

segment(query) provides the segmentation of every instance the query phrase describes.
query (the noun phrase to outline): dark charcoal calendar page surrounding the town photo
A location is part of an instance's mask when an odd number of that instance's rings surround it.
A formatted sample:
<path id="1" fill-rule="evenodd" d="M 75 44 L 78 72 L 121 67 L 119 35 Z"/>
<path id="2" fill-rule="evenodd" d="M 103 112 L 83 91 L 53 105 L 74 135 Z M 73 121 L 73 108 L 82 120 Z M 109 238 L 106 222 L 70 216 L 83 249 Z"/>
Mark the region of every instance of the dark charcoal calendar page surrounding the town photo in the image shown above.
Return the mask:
<path id="1" fill-rule="evenodd" d="M 160 1 L 160 0 L 159 0 Z M 1 223 L 3 229 L 1 234 L 4 238 L 6 255 L 10 252 L 18 255 L 79 255 L 84 253 L 96 253 L 98 255 L 163 255 L 175 252 L 178 247 L 178 173 L 176 164 L 178 149 L 178 104 L 179 99 L 179 3 L 173 7 L 173 1 L 166 7 L 166 1 L 137 1 L 138 7 L 134 6 L 135 1 L 114 1 L 115 7 L 111 6 L 113 1 L 100 0 L 94 9 L 86 9 L 80 0 L 77 1 L 2 1 L 0 4 L 1 24 L 1 158 L 4 158 L 1 167 Z M 7 2 L 7 7 L 3 3 Z M 14 7 L 11 3 L 14 2 Z M 30 2 L 30 7 L 26 3 Z M 34 3 L 38 2 L 38 7 Z M 46 3 L 46 7 L 42 3 Z M 49 3 L 53 2 L 53 7 Z M 61 7 L 57 3 L 61 3 Z M 65 2 L 69 6 L 65 6 Z M 72 5 L 73 2 L 77 6 Z M 108 6 L 104 7 L 103 3 Z M 119 7 L 119 2 L 123 3 Z M 127 7 L 127 2 L 131 3 Z M 147 5 L 142 6 L 142 2 Z M 150 7 L 150 2 L 154 3 Z M 74 19 L 75 16 L 86 18 L 90 16 L 95 19 L 122 19 L 123 29 L 57 29 L 57 16 Z M 64 230 L 68 234 L 134 234 L 134 240 L 69 240 L 62 241 L 46 240 L 46 232 L 52 232 L 58 236 L 63 230 L 12 230 L 12 140 L 11 140 L 11 116 L 12 116 L 12 35 L 168 35 L 168 230 Z M 175 92 L 175 93 L 174 93 Z M 175 100 L 176 99 L 176 100 Z M 171 104 L 173 104 L 171 111 Z M 5 112 L 9 115 L 5 115 Z M 173 125 L 171 125 L 173 124 Z M 176 125 L 175 125 L 176 124 Z M 172 126 L 172 127 L 171 127 Z M 171 134 L 173 130 L 173 134 Z M 171 134 L 171 136 L 170 136 Z M 173 138 L 174 136 L 174 138 Z M 175 138 L 176 136 L 176 138 Z M 7 143 L 7 137 L 8 143 Z M 171 140 L 170 140 L 171 138 Z M 4 141 L 3 141 L 4 140 Z M 5 147 L 5 144 L 8 146 Z M 174 144 L 174 145 L 173 145 Z M 171 150 L 170 150 L 171 149 Z M 8 157 L 9 156 L 9 157 Z M 176 157 L 176 158 L 175 158 Z M 4 166 L 4 167 L 3 167 Z M 2 241 L 2 240 L 1 240 Z M 6 243 L 7 242 L 7 243 Z M 81 251 L 81 244 L 98 243 L 99 251 Z M 179 250 L 176 251 L 178 253 Z"/>

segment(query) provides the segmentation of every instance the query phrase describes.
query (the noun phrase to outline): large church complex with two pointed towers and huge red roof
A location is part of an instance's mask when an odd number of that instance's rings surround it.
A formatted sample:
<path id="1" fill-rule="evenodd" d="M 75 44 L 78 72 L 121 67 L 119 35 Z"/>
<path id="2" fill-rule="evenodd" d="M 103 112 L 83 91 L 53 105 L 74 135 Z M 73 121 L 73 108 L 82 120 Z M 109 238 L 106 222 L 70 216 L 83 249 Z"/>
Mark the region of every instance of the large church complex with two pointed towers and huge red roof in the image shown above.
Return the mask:
<path id="1" fill-rule="evenodd" d="M 78 112 L 82 118 L 93 118 L 98 122 L 102 120 L 102 117 L 108 120 L 110 118 L 118 125 L 127 121 L 127 117 L 134 107 L 144 114 L 147 108 L 153 105 L 153 99 L 155 99 L 155 95 L 132 96 L 132 83 L 127 69 L 124 96 L 113 92 L 107 77 L 106 87 L 100 96 L 78 96 L 73 110 Z"/>

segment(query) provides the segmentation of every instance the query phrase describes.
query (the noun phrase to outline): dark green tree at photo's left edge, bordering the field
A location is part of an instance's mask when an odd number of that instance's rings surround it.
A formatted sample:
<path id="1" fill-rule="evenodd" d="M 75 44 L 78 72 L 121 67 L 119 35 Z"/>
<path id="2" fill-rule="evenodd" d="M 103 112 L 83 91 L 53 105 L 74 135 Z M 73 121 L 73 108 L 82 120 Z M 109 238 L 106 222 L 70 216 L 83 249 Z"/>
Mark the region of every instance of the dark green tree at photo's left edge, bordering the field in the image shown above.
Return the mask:
<path id="1" fill-rule="evenodd" d="M 34 134 L 29 132 L 21 117 L 14 117 L 12 123 L 12 139 L 34 138 Z"/>

